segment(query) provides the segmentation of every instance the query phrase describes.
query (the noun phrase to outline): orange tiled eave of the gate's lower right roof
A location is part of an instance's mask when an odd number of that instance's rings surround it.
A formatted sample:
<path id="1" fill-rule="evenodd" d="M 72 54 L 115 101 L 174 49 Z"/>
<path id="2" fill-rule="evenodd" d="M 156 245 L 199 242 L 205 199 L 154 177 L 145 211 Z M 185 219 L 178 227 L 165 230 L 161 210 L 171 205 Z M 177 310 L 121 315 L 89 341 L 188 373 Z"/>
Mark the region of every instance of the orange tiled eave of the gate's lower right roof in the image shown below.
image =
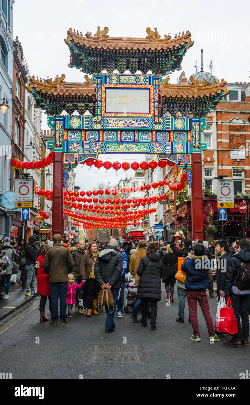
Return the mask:
<path id="1" fill-rule="evenodd" d="M 190 84 L 170 84 L 168 83 L 169 77 L 164 79 L 160 86 L 160 95 L 164 98 L 185 98 L 185 99 L 211 99 L 216 96 L 224 96 L 229 94 L 230 90 L 227 89 L 227 82 L 222 79 L 217 83 L 190 83 Z M 204 84 L 205 83 L 205 84 Z"/>

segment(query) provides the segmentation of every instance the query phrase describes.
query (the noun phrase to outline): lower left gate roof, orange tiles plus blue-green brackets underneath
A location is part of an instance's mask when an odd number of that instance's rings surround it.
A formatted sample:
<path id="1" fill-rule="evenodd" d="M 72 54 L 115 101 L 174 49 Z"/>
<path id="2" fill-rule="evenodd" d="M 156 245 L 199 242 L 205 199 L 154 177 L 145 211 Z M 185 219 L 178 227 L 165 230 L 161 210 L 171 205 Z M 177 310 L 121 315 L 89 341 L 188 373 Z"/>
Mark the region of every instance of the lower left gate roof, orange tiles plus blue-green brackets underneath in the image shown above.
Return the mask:
<path id="1" fill-rule="evenodd" d="M 55 114 L 55 102 L 58 102 L 57 111 L 60 107 L 60 112 L 65 110 L 71 114 L 77 110 L 79 114 L 84 114 L 87 109 L 92 112 L 95 103 L 95 82 L 88 75 L 84 78 L 84 83 L 68 83 L 64 81 L 64 74 L 61 77 L 57 75 L 54 81 L 32 76 L 26 89 L 36 98 L 36 107 L 47 114 Z"/>

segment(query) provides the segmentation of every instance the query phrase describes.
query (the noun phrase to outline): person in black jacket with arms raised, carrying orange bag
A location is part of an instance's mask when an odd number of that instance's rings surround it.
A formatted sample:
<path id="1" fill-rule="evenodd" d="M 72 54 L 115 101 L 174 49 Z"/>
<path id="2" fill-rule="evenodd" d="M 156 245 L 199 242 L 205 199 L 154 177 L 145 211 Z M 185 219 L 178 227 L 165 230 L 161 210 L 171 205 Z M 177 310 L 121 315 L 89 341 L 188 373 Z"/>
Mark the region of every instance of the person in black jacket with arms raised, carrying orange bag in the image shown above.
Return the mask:
<path id="1" fill-rule="evenodd" d="M 184 245 L 185 247 L 183 249 L 177 249 L 174 246 L 175 238 L 176 237 L 182 237 L 184 239 Z M 187 257 L 187 254 L 189 251 L 192 249 L 192 241 L 189 238 L 185 238 L 184 234 L 180 235 L 179 232 L 177 232 L 173 237 L 170 242 L 170 249 L 172 252 L 177 256 L 177 270 L 181 268 L 181 264 L 184 259 L 179 260 L 179 258 L 185 258 Z M 178 318 L 176 318 L 176 322 L 179 322 L 180 324 L 184 324 L 184 318 L 185 318 L 185 296 L 187 295 L 187 289 L 184 283 L 182 281 L 176 280 L 176 286 L 177 286 L 177 295 L 178 295 Z M 189 322 L 190 322 L 190 311 L 189 311 Z"/>

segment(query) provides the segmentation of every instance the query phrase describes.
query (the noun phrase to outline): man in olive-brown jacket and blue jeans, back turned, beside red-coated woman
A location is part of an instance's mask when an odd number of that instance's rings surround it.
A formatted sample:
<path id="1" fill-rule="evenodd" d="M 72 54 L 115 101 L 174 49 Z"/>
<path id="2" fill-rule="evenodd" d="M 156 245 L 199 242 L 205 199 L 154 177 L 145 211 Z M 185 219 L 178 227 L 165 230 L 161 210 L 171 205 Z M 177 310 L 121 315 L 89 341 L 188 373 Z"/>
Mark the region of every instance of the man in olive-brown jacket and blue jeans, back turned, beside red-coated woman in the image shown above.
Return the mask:
<path id="1" fill-rule="evenodd" d="M 58 297 L 60 298 L 60 320 L 61 325 L 68 323 L 66 315 L 66 296 L 68 286 L 68 273 L 74 266 L 74 261 L 69 249 L 61 245 L 62 237 L 58 233 L 52 238 L 53 247 L 45 255 L 43 269 L 49 275 L 51 292 L 51 316 L 52 325 L 57 326 L 58 322 Z"/>

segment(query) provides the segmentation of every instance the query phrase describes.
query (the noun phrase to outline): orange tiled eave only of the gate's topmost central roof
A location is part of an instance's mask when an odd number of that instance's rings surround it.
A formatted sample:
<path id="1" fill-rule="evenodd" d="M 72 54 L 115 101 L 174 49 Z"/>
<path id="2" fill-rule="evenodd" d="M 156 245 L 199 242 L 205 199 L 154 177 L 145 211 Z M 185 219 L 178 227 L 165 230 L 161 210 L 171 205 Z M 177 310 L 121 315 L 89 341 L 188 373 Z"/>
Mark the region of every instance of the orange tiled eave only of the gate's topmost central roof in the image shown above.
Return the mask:
<path id="1" fill-rule="evenodd" d="M 179 33 L 180 34 L 180 33 Z M 92 36 L 91 33 L 87 33 L 88 37 L 76 34 L 72 29 L 67 31 L 67 39 L 65 43 L 69 47 L 84 47 L 90 51 L 95 49 L 131 49 L 131 50 L 150 50 L 150 51 L 167 51 L 172 49 L 177 49 L 187 45 L 187 47 L 193 46 L 193 41 L 191 41 L 191 33 L 186 31 L 186 33 L 176 38 L 171 38 L 169 35 L 165 35 L 165 38 L 154 38 L 155 40 L 149 41 L 147 38 L 133 38 L 133 37 L 116 37 L 107 36 L 103 40 L 100 37 Z M 90 37 L 89 37 L 90 35 Z"/>

